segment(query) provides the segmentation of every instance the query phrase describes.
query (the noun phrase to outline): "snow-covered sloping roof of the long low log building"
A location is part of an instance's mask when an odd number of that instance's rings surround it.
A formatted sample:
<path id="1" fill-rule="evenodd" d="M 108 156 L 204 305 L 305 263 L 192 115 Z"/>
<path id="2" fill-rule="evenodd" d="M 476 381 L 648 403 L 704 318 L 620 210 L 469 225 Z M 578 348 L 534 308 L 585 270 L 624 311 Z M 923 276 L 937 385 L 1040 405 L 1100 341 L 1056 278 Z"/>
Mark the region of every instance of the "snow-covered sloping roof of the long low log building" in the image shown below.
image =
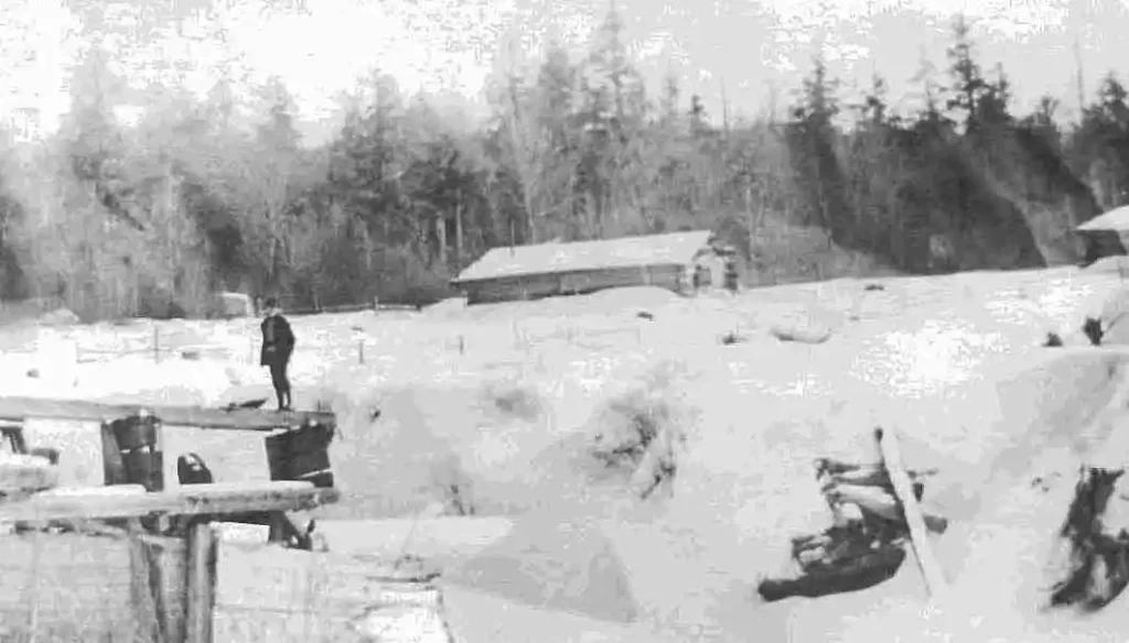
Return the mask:
<path id="1" fill-rule="evenodd" d="M 709 248 L 708 230 L 622 237 L 570 244 L 537 244 L 493 248 L 467 266 L 455 283 L 518 276 L 645 265 L 685 264 Z"/>

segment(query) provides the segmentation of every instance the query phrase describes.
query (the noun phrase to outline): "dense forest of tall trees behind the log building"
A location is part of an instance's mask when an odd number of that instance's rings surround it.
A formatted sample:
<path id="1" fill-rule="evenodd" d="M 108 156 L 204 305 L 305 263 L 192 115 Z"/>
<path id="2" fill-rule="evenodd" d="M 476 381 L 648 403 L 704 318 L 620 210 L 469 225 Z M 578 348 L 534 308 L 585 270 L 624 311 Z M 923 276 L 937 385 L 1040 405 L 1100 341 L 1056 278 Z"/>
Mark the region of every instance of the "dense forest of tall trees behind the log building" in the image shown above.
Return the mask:
<path id="1" fill-rule="evenodd" d="M 426 302 L 491 247 L 690 228 L 738 248 L 749 285 L 1035 267 L 1076 261 L 1067 231 L 1127 200 L 1117 78 L 1080 122 L 1053 97 L 1015 114 L 961 19 L 919 113 L 894 113 L 881 78 L 847 104 L 814 60 L 787 116 L 720 123 L 673 78 L 648 91 L 622 32 L 611 12 L 583 59 L 550 47 L 493 78 L 473 126 L 374 72 L 316 147 L 278 79 L 254 126 L 226 79 L 202 98 L 150 86 L 120 122 L 123 81 L 91 47 L 59 132 L 0 159 L 0 298 L 88 319 L 203 314 L 217 290 Z"/>

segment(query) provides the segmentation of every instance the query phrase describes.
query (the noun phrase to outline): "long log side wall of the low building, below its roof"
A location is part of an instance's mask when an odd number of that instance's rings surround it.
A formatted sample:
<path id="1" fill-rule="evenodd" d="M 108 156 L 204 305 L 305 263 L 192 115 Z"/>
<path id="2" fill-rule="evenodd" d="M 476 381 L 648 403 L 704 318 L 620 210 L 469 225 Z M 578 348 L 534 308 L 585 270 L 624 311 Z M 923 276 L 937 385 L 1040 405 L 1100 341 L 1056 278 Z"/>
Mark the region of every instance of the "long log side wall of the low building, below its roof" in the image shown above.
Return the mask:
<path id="1" fill-rule="evenodd" d="M 692 266 L 658 265 L 629 268 L 605 268 L 567 273 L 541 273 L 514 278 L 499 278 L 461 285 L 466 291 L 467 303 L 520 301 L 585 294 L 607 288 L 654 285 L 674 292 L 689 292 L 688 275 Z"/>

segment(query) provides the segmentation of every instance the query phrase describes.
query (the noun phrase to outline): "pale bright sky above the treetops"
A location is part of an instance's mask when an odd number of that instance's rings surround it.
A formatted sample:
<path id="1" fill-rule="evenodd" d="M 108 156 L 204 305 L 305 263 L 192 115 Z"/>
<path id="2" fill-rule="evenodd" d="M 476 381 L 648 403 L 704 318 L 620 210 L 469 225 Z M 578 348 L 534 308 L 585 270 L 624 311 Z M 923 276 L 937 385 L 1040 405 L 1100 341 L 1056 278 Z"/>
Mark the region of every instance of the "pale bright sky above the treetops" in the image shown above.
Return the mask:
<path id="1" fill-rule="evenodd" d="M 32 30 L 37 35 L 29 42 L 46 53 L 33 72 L 12 80 L 12 69 L 20 65 L 9 59 L 17 54 L 0 51 L 0 72 L 8 77 L 0 77 L 0 83 L 17 85 L 20 95 L 7 104 L 26 102 L 26 95 L 34 93 L 36 100 L 64 109 L 60 88 L 65 74 L 52 70 L 76 51 L 80 25 L 59 3 L 10 1 L 9 7 L 25 9 L 2 9 L 0 19 L 6 25 L 36 25 Z M 465 96 L 481 114 L 482 89 L 491 73 L 536 61 L 549 38 L 580 55 L 610 1 L 306 0 L 305 11 L 270 15 L 253 2 L 230 1 L 212 19 L 182 29 L 194 41 L 170 35 L 163 46 L 138 55 L 148 56 L 150 63 L 191 61 L 195 69 L 181 78 L 198 90 L 210 86 L 237 56 L 251 77 L 283 78 L 298 97 L 307 125 L 327 117 L 334 95 L 353 87 L 374 65 L 409 91 L 444 89 Z M 733 115 L 754 116 L 772 105 L 782 109 L 816 54 L 841 79 L 844 100 L 858 96 L 859 88 L 878 73 L 887 80 L 891 102 L 912 109 L 920 88 L 912 79 L 922 69 L 921 61 L 944 72 L 957 11 L 973 24 L 984 68 L 991 72 L 997 62 L 1003 64 L 1021 111 L 1051 94 L 1062 102 L 1065 114 L 1076 112 L 1079 62 L 1087 99 L 1109 70 L 1129 72 L 1123 69 L 1129 38 L 1122 35 L 1129 30 L 1129 11 L 1121 0 L 614 1 L 627 24 L 630 51 L 650 88 L 657 89 L 664 76 L 673 73 L 681 79 L 684 100 L 701 95 L 715 120 L 723 103 Z M 220 26 L 224 43 L 217 41 Z M 54 54 L 45 46 L 52 38 L 60 43 Z M 135 72 L 154 65 L 133 61 L 124 67 Z"/>

